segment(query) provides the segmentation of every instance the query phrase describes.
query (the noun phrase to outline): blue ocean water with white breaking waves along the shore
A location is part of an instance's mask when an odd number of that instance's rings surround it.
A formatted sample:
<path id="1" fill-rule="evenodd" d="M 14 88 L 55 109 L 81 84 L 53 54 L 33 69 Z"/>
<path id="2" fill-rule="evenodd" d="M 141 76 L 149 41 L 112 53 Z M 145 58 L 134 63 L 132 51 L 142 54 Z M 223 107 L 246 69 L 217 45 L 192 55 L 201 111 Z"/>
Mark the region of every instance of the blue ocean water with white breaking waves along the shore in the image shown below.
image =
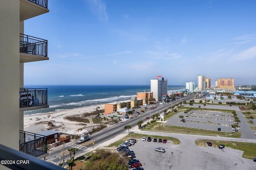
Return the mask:
<path id="1" fill-rule="evenodd" d="M 27 85 L 25 88 L 48 88 L 49 108 L 24 111 L 24 115 L 47 113 L 63 109 L 94 106 L 130 100 L 137 92 L 150 92 L 149 85 Z M 185 86 L 168 86 L 176 92 Z"/>

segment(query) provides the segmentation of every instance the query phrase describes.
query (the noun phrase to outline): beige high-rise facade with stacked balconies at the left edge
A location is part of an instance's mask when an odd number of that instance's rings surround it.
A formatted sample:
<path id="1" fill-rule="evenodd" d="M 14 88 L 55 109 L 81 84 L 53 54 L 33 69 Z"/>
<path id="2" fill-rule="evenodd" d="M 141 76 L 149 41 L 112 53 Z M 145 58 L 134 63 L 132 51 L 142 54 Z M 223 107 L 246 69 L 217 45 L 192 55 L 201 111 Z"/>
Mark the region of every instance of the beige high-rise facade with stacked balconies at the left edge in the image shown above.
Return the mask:
<path id="1" fill-rule="evenodd" d="M 47 0 L 0 0 L 0 4 L 1 148 L 9 147 L 45 158 L 48 155 L 46 137 L 23 131 L 23 113 L 49 107 L 47 88 L 24 88 L 24 63 L 48 60 L 47 40 L 24 35 L 24 21 L 49 12 Z M 34 31 L 45 30 L 40 30 L 40 25 L 34 25 Z M 44 74 L 40 70 L 35 71 Z M 40 74 L 31 79 L 40 78 Z M 6 167 L 0 165 L 2 169 Z"/>

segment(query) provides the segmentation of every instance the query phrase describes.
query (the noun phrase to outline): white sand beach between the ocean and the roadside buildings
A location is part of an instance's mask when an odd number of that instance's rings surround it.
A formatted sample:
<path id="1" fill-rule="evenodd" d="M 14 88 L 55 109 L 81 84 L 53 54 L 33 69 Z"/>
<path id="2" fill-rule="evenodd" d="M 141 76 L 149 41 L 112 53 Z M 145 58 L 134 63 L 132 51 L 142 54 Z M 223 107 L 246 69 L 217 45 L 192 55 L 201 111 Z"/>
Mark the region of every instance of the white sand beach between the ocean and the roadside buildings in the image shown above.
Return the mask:
<path id="1" fill-rule="evenodd" d="M 33 114 L 33 115 L 24 115 L 24 127 L 30 127 L 33 125 L 43 124 L 46 128 L 48 121 L 53 121 L 54 127 L 53 129 L 59 132 L 74 134 L 74 135 L 82 135 L 87 132 L 90 126 L 94 126 L 95 124 L 92 122 L 91 117 L 89 117 L 90 123 L 79 123 L 74 121 L 68 121 L 63 119 L 65 116 L 70 115 L 79 115 L 82 113 L 89 113 L 96 110 L 96 107 L 100 107 L 99 110 L 104 109 L 104 104 L 96 105 L 96 106 L 88 106 L 81 107 L 76 109 L 66 109 L 61 111 L 54 111 L 42 114 Z M 50 115 L 50 117 L 48 117 Z M 86 129 L 84 129 L 84 124 L 86 124 Z M 79 130 L 82 128 L 82 130 Z"/>

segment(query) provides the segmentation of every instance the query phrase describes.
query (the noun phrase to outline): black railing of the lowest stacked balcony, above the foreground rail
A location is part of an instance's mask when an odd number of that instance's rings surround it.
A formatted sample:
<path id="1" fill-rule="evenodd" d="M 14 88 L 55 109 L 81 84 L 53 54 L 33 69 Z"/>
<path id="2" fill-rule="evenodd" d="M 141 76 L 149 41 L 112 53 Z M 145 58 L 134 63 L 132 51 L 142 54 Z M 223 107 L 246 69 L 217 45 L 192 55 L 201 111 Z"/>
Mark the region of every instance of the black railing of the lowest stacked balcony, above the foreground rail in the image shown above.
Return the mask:
<path id="1" fill-rule="evenodd" d="M 46 154 L 46 136 L 20 131 L 20 151 L 35 157 Z"/>

